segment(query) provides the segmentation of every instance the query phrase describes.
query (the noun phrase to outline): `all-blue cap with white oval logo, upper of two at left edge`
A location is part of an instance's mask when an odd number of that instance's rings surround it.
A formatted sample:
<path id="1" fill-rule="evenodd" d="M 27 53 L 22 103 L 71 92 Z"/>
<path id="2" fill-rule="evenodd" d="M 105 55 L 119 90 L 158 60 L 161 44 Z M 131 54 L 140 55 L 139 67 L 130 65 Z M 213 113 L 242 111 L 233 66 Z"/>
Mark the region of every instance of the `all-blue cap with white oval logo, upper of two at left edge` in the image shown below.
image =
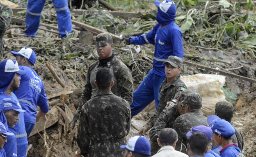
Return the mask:
<path id="1" fill-rule="evenodd" d="M 15 110 L 18 112 L 27 112 L 21 108 L 21 105 L 19 102 L 11 98 L 5 98 L 0 102 L 0 110 L 1 111 Z"/>

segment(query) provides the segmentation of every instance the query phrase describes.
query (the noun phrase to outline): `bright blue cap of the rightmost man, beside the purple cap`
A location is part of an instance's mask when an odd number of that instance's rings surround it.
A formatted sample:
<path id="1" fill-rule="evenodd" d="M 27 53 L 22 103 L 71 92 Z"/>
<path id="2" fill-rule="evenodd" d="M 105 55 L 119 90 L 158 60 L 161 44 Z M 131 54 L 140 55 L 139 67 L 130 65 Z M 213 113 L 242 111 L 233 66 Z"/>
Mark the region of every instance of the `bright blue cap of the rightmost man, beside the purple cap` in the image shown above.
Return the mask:
<path id="1" fill-rule="evenodd" d="M 228 121 L 220 119 L 217 115 L 208 116 L 207 122 L 213 133 L 224 137 L 231 137 L 235 134 L 235 128 Z"/>

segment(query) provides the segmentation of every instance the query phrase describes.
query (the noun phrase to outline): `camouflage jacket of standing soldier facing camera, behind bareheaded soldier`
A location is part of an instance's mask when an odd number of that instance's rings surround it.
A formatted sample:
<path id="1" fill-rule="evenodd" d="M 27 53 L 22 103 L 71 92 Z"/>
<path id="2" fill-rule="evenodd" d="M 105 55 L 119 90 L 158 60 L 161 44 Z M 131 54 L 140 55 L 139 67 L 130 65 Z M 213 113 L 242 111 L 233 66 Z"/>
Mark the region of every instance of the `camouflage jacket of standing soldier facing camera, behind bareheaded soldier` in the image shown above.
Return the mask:
<path id="1" fill-rule="evenodd" d="M 93 97 L 98 88 L 94 85 L 94 80 L 96 80 L 96 73 L 98 69 L 108 67 L 110 71 L 114 73 L 114 86 L 111 88 L 111 91 L 123 99 L 127 100 L 129 104 L 133 101 L 133 77 L 130 72 L 130 69 L 118 60 L 115 56 L 107 62 L 107 64 L 101 65 L 99 61 L 94 62 L 89 66 L 86 78 L 86 84 L 84 93 L 80 97 L 80 102 L 77 110 L 75 111 L 74 118 L 78 119 L 82 105 L 85 104 L 91 97 Z"/>

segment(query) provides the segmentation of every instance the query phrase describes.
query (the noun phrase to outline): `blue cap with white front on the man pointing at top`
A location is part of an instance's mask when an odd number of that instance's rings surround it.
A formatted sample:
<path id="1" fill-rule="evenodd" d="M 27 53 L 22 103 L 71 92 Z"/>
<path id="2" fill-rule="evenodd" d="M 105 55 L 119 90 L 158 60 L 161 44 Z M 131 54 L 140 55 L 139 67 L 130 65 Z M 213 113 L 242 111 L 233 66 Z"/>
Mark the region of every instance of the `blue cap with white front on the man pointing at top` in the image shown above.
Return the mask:
<path id="1" fill-rule="evenodd" d="M 176 15 L 176 5 L 171 0 L 164 0 L 160 2 L 159 0 L 155 0 L 154 2 L 156 7 L 159 7 L 159 9 L 167 14 Z"/>

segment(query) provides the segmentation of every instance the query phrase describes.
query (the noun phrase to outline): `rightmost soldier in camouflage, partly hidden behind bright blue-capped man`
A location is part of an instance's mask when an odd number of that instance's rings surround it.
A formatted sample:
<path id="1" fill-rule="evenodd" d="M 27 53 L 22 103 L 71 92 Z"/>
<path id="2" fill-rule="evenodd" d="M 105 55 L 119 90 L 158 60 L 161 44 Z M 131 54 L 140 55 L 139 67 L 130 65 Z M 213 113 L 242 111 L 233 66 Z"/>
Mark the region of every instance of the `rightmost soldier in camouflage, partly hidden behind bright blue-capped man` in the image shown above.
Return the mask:
<path id="1" fill-rule="evenodd" d="M 217 115 L 221 119 L 225 119 L 231 124 L 232 124 L 231 120 L 233 118 L 233 110 L 234 110 L 233 105 L 226 101 L 217 102 L 217 104 L 215 105 L 215 115 Z M 237 143 L 238 147 L 242 151 L 244 147 L 244 139 L 242 134 L 236 128 L 235 128 L 235 134 L 232 135 L 231 140 L 233 143 Z"/>

